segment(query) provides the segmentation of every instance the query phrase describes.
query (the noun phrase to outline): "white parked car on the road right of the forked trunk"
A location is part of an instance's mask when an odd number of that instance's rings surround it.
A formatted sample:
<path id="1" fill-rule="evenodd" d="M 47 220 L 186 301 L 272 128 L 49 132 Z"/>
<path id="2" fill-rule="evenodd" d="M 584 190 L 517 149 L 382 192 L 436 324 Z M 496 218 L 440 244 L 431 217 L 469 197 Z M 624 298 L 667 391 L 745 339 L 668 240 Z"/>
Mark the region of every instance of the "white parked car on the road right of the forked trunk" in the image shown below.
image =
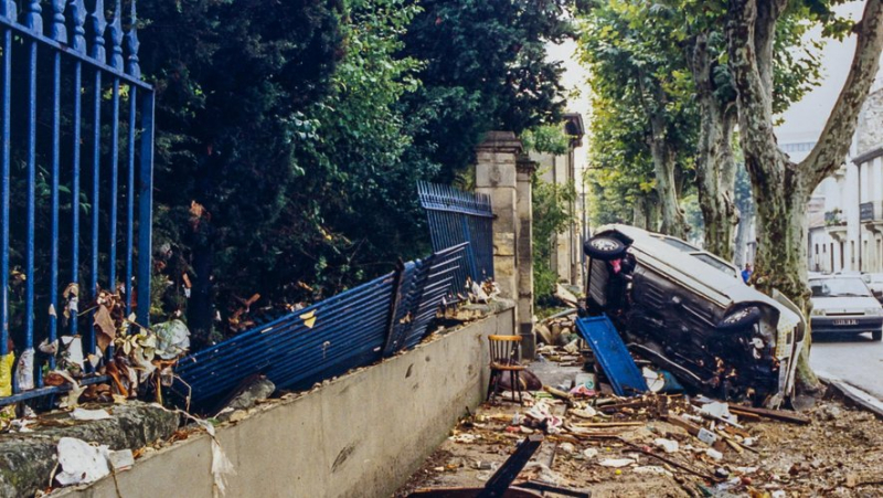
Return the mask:
<path id="1" fill-rule="evenodd" d="M 834 275 L 809 279 L 813 333 L 864 333 L 883 339 L 883 307 L 860 276 Z"/>

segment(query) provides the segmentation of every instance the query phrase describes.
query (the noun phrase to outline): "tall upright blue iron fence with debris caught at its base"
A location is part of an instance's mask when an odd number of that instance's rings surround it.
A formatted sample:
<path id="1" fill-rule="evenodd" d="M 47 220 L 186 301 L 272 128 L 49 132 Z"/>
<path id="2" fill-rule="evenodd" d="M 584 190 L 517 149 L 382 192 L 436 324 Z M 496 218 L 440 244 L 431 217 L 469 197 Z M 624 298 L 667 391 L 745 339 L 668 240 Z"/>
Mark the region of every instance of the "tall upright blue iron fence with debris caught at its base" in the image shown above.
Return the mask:
<path id="1" fill-rule="evenodd" d="M 148 324 L 155 95 L 140 78 L 136 2 L 116 0 L 109 22 L 104 0 L 20 3 L 0 0 L 0 356 L 12 338 L 33 358 L 62 332 L 92 354 L 81 304 L 98 288 L 119 289 Z M 41 388 L 41 363 L 54 358 L 38 358 L 35 385 L 17 392 Z"/>

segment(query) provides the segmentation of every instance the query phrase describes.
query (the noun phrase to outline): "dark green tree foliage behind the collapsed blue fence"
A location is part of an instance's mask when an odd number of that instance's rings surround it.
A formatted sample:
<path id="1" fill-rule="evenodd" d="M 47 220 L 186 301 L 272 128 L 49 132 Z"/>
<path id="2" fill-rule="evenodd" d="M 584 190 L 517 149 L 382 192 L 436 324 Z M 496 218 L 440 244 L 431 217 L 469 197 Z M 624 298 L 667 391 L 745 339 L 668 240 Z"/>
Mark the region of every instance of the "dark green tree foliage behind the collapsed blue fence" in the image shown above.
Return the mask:
<path id="1" fill-rule="evenodd" d="M 416 182 L 450 181 L 490 129 L 556 123 L 561 68 L 544 55 L 572 33 L 565 3 L 139 3 L 158 97 L 156 311 L 184 312 L 206 343 L 248 327 L 243 308 L 425 254 Z"/>

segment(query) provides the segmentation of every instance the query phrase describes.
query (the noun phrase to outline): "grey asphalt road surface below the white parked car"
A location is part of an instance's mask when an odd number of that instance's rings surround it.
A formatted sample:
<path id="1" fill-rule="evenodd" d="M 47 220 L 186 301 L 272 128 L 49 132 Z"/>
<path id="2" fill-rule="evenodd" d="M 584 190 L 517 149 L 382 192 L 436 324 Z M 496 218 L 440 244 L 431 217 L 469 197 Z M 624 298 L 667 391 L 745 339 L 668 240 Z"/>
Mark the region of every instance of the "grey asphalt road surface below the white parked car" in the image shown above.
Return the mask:
<path id="1" fill-rule="evenodd" d="M 812 369 L 834 377 L 883 400 L 883 341 L 860 336 L 813 335 Z"/>

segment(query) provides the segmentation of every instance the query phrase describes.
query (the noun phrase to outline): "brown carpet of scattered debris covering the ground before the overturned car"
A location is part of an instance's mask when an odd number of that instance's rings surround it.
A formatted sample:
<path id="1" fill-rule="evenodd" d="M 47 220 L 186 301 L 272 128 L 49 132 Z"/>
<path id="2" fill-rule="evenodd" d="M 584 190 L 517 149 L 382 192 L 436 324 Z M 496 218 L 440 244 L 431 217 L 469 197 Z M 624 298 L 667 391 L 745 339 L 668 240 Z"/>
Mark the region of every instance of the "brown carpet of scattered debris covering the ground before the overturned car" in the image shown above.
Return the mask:
<path id="1" fill-rule="evenodd" d="M 481 462 L 480 468 L 436 471 L 430 457 L 396 497 L 487 481 L 525 433 L 544 434 L 555 446 L 538 452 L 515 485 L 554 478 L 598 497 L 866 496 L 879 489 L 880 479 L 864 469 L 883 466 L 883 431 L 869 413 L 834 402 L 809 413 L 774 411 L 691 392 L 619 396 L 594 351 L 538 350 L 543 360 L 529 371 L 544 386 L 530 392 L 532 401 L 482 405 L 437 451 L 446 460 Z M 651 364 L 637 362 L 639 370 Z"/>

